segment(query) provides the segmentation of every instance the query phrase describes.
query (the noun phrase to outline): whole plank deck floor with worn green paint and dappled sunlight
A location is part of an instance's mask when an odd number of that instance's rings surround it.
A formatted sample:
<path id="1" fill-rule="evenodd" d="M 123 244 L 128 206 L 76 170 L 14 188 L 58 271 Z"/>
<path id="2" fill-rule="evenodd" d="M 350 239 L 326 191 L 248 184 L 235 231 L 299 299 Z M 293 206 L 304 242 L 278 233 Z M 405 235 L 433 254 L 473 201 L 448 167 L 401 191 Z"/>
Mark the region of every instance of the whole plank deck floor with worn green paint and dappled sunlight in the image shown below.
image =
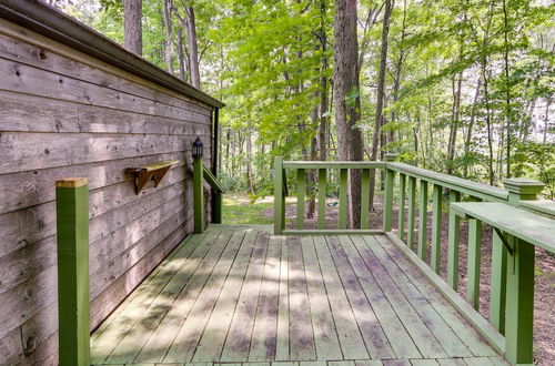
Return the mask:
<path id="1" fill-rule="evenodd" d="M 95 365 L 504 364 L 385 236 L 263 226 L 191 237 L 91 348 Z"/>

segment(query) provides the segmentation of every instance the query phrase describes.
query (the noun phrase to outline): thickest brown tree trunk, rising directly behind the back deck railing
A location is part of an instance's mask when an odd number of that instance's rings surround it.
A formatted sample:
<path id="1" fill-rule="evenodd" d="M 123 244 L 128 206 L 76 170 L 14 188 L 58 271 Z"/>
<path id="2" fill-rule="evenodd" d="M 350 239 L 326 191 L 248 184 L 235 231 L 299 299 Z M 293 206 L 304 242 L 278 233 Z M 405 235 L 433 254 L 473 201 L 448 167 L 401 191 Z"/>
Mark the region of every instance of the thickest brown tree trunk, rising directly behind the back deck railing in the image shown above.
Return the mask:
<path id="1" fill-rule="evenodd" d="M 360 119 L 359 40 L 356 34 L 356 0 L 335 0 L 333 79 L 337 155 L 340 160 L 361 161 L 362 132 L 355 124 Z M 347 196 L 349 226 L 361 223 L 361 172 L 351 170 Z"/>

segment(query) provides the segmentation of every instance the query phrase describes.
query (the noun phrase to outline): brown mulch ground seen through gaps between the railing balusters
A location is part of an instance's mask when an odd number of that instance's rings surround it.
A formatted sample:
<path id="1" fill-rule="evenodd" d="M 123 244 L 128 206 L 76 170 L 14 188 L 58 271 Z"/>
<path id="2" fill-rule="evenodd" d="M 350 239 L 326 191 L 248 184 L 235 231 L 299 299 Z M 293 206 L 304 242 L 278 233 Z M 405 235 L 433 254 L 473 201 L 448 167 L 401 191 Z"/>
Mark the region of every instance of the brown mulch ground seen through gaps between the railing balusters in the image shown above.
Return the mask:
<path id="1" fill-rule="evenodd" d="M 273 217 L 273 209 L 264 211 L 264 216 Z M 326 227 L 337 227 L 337 207 L 326 207 Z M 375 211 L 370 215 L 370 227 L 382 227 L 382 206 L 377 202 Z M 416 233 L 418 227 L 418 213 L 416 216 Z M 289 228 L 294 228 L 296 220 L 296 206 L 287 204 L 285 217 Z M 442 254 L 441 254 L 441 271 L 440 275 L 447 278 L 447 222 L 448 217 L 444 213 L 442 220 Z M 432 237 L 432 216 L 428 212 L 427 217 L 427 236 L 428 242 Z M 393 227 L 396 232 L 397 227 L 397 211 L 394 210 Z M 316 217 L 305 218 L 305 228 L 316 228 Z M 458 293 L 464 297 L 466 293 L 466 256 L 467 256 L 467 225 L 464 221 L 461 222 L 461 245 L 458 260 Z M 492 228 L 485 226 L 483 230 L 482 240 L 482 262 L 481 262 L 481 286 L 480 286 L 480 313 L 488 318 L 490 314 L 490 282 L 491 282 L 491 260 L 492 260 Z M 427 247 L 426 258 L 430 264 L 430 246 Z M 536 268 L 535 268 L 535 288 L 534 288 L 534 363 L 536 365 L 555 365 L 555 325 L 554 307 L 555 307 L 555 255 L 536 248 Z"/>

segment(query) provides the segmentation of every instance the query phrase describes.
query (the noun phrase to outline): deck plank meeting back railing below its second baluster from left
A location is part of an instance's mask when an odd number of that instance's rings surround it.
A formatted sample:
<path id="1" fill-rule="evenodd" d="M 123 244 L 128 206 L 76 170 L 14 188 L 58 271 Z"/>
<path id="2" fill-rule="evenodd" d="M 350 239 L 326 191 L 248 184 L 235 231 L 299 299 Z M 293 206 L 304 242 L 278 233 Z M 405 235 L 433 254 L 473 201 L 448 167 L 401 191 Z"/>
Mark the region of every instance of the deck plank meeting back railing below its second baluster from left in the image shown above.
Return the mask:
<path id="1" fill-rule="evenodd" d="M 333 264 L 325 237 L 314 236 L 314 247 L 322 268 L 325 289 L 340 338 L 341 350 L 345 359 L 369 359 L 356 318 L 351 309 L 346 294 L 341 285 L 340 276 Z"/>

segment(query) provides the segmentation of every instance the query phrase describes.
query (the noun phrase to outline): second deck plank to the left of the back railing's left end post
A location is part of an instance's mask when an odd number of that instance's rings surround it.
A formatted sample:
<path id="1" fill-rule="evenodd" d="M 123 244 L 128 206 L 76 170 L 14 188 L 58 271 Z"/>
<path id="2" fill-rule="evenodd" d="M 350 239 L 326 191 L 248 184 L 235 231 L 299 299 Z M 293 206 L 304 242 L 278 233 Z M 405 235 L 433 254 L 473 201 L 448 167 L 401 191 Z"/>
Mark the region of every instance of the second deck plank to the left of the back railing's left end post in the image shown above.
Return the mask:
<path id="1" fill-rule="evenodd" d="M 245 234 L 238 257 L 199 342 L 193 362 L 215 362 L 220 359 L 225 336 L 239 301 L 239 294 L 244 284 L 255 237 L 256 232 L 254 231 Z"/>

